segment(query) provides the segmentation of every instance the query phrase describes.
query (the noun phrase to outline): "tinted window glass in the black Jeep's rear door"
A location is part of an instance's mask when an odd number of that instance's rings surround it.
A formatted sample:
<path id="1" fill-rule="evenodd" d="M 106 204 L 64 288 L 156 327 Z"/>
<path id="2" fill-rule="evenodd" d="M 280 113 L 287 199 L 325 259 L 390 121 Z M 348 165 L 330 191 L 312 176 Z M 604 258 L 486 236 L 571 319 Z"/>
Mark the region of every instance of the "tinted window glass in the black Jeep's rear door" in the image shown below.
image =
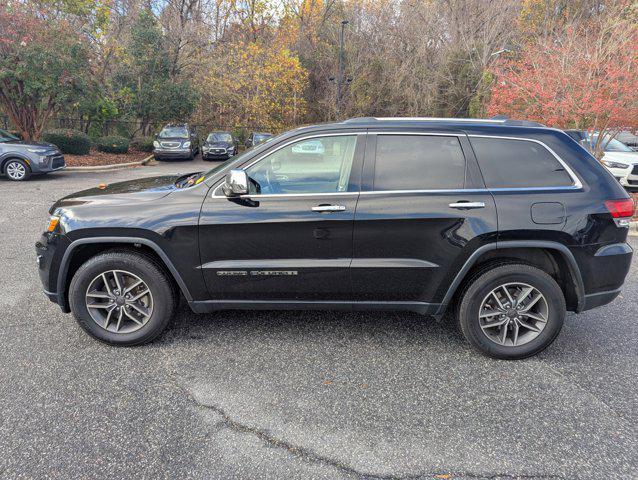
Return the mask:
<path id="1" fill-rule="evenodd" d="M 465 157 L 456 137 L 378 135 L 375 190 L 463 188 Z"/>

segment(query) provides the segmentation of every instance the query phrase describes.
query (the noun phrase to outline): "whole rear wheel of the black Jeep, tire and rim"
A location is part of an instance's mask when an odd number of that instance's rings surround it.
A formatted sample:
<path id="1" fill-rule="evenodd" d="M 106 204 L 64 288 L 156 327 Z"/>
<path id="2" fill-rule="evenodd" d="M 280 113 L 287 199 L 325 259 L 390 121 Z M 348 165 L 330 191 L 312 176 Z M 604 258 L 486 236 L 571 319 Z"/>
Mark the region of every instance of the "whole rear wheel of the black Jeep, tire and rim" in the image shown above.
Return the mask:
<path id="1" fill-rule="evenodd" d="M 461 294 L 458 320 L 465 338 L 495 358 L 530 357 L 547 348 L 565 319 L 565 298 L 546 272 L 525 264 L 494 267 Z"/>

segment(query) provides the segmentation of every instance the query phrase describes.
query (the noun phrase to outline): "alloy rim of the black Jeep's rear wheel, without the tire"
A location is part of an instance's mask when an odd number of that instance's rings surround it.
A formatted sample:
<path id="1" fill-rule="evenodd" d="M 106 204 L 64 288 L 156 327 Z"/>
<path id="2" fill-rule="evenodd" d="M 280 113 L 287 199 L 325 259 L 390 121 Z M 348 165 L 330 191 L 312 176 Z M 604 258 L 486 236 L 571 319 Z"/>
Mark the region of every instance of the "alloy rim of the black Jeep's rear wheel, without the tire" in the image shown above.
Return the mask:
<path id="1" fill-rule="evenodd" d="M 549 305 L 545 296 L 526 283 L 505 283 L 481 302 L 478 321 L 492 342 L 519 347 L 538 337 L 547 325 Z"/>

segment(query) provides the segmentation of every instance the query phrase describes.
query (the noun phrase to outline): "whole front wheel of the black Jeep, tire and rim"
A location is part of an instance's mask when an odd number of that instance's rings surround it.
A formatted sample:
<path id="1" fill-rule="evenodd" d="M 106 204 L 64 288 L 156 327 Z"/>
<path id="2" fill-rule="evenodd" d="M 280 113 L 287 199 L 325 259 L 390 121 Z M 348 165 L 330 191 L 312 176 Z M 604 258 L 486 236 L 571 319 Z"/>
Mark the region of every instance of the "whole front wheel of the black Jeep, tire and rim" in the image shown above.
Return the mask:
<path id="1" fill-rule="evenodd" d="M 152 258 L 124 251 L 91 258 L 69 287 L 80 326 L 114 345 L 152 341 L 168 325 L 178 298 L 171 279 Z"/>

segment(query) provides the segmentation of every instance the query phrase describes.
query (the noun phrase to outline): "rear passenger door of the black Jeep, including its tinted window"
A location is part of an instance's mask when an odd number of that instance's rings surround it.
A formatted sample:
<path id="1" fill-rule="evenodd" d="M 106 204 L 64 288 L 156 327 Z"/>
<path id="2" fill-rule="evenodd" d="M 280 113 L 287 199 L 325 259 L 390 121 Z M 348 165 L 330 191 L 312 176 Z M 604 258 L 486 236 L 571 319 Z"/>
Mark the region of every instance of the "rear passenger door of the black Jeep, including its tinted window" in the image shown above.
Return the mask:
<path id="1" fill-rule="evenodd" d="M 495 241 L 496 208 L 462 132 L 370 132 L 355 213 L 359 301 L 432 313 L 478 246 Z"/>

